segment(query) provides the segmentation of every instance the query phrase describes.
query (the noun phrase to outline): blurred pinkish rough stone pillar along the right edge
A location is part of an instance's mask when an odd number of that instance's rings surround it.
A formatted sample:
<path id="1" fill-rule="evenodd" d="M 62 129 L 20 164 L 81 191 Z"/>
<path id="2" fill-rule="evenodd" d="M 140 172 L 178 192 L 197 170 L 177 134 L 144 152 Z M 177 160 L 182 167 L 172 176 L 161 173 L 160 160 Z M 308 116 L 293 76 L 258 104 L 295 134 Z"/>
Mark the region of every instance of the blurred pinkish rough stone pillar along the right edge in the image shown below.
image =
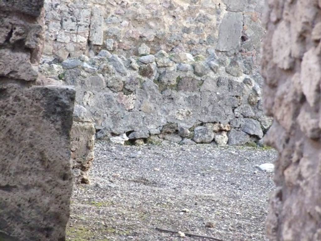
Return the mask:
<path id="1" fill-rule="evenodd" d="M 270 198 L 270 240 L 321 240 L 321 1 L 268 0 L 264 101 L 279 157 Z"/>

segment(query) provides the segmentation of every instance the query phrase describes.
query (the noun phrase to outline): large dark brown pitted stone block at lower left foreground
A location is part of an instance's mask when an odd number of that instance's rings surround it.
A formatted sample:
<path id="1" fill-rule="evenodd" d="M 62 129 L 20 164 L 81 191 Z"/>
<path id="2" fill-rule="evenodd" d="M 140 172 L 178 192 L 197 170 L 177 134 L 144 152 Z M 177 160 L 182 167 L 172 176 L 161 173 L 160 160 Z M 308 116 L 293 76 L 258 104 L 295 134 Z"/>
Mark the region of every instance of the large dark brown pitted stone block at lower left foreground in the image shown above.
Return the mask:
<path id="1" fill-rule="evenodd" d="M 9 240 L 65 240 L 75 92 L 16 84 L 0 92 L 0 231 Z"/>

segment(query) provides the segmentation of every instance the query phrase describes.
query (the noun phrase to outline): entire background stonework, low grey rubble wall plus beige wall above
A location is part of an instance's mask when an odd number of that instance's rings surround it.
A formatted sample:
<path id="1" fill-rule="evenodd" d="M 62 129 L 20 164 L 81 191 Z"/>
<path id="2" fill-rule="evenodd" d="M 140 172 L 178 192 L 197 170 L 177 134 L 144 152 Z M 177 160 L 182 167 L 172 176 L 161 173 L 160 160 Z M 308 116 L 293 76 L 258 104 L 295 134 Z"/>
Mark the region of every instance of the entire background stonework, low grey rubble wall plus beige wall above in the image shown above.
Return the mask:
<path id="1" fill-rule="evenodd" d="M 76 86 L 97 138 L 242 145 L 271 125 L 258 71 L 263 1 L 45 3 L 41 71 Z"/>

